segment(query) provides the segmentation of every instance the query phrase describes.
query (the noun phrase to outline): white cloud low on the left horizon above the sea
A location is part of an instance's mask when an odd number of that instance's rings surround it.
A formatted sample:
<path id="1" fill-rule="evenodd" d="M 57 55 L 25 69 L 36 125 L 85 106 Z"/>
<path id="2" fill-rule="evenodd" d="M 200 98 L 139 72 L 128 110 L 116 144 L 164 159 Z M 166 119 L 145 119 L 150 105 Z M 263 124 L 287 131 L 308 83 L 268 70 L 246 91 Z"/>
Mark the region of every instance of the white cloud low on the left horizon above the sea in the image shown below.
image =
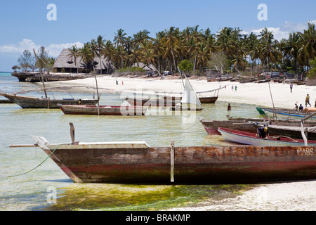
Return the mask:
<path id="1" fill-rule="evenodd" d="M 50 44 L 46 47 L 46 51 L 48 51 L 49 56 L 57 57 L 62 52 L 62 49 L 68 49 L 73 45 L 77 45 L 77 48 L 82 48 L 84 44 L 80 41 L 74 43 L 67 44 Z M 0 53 L 19 55 L 22 54 L 23 51 L 29 50 L 33 52 L 33 49 L 37 51 L 41 45 L 35 44 L 31 39 L 22 39 L 18 44 L 8 44 L 4 46 L 0 46 Z"/>

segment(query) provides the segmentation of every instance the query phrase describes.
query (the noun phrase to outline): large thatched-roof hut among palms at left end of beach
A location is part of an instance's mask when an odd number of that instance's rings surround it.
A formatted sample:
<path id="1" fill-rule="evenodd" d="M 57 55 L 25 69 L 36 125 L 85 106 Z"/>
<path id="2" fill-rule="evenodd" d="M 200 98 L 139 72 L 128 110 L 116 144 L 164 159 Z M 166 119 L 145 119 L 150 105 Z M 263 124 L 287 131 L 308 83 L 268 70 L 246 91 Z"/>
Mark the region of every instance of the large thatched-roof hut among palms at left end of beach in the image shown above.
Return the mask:
<path id="1" fill-rule="evenodd" d="M 74 58 L 70 56 L 69 49 L 64 49 L 56 58 L 55 63 L 53 65 L 53 69 L 56 72 L 91 72 L 93 70 L 93 65 L 96 68 L 96 72 L 100 74 L 101 68 L 103 74 L 111 74 L 115 68 L 113 63 L 107 59 L 107 57 L 96 57 L 91 63 L 84 63 L 81 56 L 76 58 L 76 62 L 74 62 Z"/>

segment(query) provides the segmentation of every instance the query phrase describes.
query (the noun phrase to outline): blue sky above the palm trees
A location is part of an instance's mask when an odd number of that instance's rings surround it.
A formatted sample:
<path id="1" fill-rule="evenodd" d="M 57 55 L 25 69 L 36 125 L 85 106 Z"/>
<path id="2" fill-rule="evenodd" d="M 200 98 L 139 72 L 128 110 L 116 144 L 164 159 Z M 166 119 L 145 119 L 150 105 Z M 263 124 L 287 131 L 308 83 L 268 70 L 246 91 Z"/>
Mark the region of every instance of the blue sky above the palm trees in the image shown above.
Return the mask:
<path id="1" fill-rule="evenodd" d="M 48 4 L 57 7 L 57 20 L 46 18 Z M 258 20 L 259 4 L 268 8 L 268 20 Z M 308 21 L 316 22 L 315 0 L 134 0 L 134 1 L 1 1 L 0 71 L 12 71 L 25 49 L 46 46 L 53 57 L 62 49 L 102 35 L 114 39 L 122 28 L 129 36 L 147 30 L 155 37 L 169 27 L 199 25 L 212 33 L 222 27 L 239 27 L 244 32 L 259 32 L 268 27 L 275 38 L 303 31 Z"/>

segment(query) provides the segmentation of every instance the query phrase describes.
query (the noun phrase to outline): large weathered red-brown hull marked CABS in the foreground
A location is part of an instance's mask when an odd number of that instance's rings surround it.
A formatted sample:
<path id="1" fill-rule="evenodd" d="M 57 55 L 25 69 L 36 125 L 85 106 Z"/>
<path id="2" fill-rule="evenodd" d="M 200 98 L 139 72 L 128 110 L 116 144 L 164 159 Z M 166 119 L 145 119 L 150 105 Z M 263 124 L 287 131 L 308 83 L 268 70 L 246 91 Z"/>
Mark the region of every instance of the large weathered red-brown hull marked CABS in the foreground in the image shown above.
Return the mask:
<path id="1" fill-rule="evenodd" d="M 35 140 L 35 139 L 34 139 Z M 316 179 L 315 147 L 106 147 L 103 143 L 41 148 L 78 183 L 175 184 Z"/>

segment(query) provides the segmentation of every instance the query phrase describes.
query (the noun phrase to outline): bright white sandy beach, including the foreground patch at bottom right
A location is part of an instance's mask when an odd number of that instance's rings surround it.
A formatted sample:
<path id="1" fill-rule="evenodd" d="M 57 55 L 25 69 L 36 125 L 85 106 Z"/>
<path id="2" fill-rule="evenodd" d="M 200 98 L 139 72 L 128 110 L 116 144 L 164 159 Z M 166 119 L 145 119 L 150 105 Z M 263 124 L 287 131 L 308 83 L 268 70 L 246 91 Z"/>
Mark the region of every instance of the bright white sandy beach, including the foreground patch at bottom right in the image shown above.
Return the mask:
<path id="1" fill-rule="evenodd" d="M 116 80 L 118 84 L 116 84 Z M 289 84 L 279 83 L 246 83 L 239 82 L 206 82 L 206 79 L 190 79 L 192 86 L 197 91 L 209 91 L 227 85 L 226 89 L 219 92 L 218 101 L 235 103 L 248 103 L 272 107 L 294 108 L 298 103 L 305 106 L 305 96 L 310 95 L 310 104 L 315 105 L 316 86 L 305 86 L 294 84 L 291 93 Z M 123 84 L 122 84 L 123 82 Z M 57 83 L 56 83 L 57 84 Z M 62 82 L 62 85 L 96 86 L 93 78 L 79 79 Z M 98 77 L 100 92 L 124 92 L 124 91 L 147 91 L 162 94 L 165 91 L 182 91 L 180 79 L 168 77 L 159 78 L 122 78 L 122 77 Z M 234 89 L 232 90 L 232 86 Z M 237 86 L 237 91 L 235 91 Z M 270 95 L 272 93 L 272 98 Z M 212 94 L 212 93 L 211 93 Z M 203 94 L 208 95 L 208 94 Z M 272 101 L 273 100 L 273 101 Z M 206 211 L 206 210 L 254 210 L 254 211 L 314 211 L 316 209 L 316 181 L 298 181 L 279 184 L 263 184 L 251 191 L 246 191 L 237 198 L 231 198 L 215 202 L 209 200 L 199 207 L 186 207 L 173 210 L 180 211 Z"/>

